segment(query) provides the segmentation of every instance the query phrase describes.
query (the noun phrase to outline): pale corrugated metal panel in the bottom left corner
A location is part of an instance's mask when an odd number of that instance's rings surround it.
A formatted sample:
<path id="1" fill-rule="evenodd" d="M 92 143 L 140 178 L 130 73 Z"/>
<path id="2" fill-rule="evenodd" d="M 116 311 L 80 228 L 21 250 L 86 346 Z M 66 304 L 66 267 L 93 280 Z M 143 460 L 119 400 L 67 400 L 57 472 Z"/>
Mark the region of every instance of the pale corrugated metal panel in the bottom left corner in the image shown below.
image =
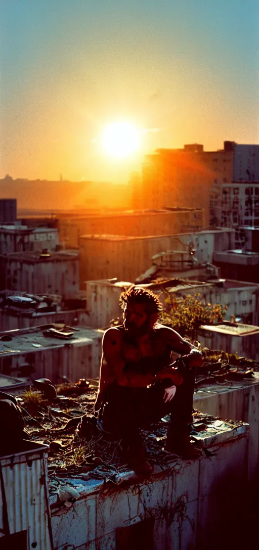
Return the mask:
<path id="1" fill-rule="evenodd" d="M 37 543 L 37 550 L 52 550 L 45 458 L 47 447 L 31 442 L 26 446 L 35 450 L 0 458 L 9 531 L 13 534 L 27 530 L 29 547 Z M 3 530 L 2 491 L 0 494 L 0 529 Z"/>

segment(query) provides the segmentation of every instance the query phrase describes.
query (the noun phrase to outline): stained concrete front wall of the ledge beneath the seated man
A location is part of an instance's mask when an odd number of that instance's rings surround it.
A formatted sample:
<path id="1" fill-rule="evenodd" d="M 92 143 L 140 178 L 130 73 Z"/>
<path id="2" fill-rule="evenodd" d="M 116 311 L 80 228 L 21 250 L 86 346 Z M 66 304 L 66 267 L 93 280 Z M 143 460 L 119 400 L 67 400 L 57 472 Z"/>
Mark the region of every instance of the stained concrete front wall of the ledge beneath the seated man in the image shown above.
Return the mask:
<path id="1" fill-rule="evenodd" d="M 224 542 L 233 542 L 234 520 L 244 506 L 247 429 L 233 431 L 224 443 L 216 437 L 209 458 L 203 453 L 197 460 L 176 459 L 145 481 L 126 487 L 109 483 L 71 508 L 52 510 L 55 549 L 140 548 L 140 540 L 153 550 L 225 548 Z M 144 546 L 151 529 L 152 545 Z"/>

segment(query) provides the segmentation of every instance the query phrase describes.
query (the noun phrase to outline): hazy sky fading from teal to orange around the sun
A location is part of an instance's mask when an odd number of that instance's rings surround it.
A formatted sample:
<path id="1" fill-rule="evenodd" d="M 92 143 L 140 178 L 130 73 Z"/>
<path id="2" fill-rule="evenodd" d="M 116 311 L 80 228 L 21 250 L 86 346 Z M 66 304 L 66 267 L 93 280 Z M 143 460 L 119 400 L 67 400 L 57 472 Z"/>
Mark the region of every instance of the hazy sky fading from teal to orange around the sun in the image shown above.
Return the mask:
<path id="1" fill-rule="evenodd" d="M 157 147 L 259 143 L 258 0 L 1 0 L 0 177 L 126 180 Z M 109 122 L 143 130 L 114 161 Z"/>

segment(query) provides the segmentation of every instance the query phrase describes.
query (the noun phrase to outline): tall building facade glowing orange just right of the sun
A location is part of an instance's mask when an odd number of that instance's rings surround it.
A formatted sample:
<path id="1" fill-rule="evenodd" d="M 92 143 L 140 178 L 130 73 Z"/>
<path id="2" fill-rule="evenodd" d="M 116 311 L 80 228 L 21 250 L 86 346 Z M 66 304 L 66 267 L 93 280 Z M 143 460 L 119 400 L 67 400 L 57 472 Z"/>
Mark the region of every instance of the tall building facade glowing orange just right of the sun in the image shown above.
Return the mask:
<path id="1" fill-rule="evenodd" d="M 147 155 L 142 168 L 142 197 L 149 208 L 199 207 L 206 224 L 214 224 L 214 202 L 221 183 L 233 179 L 233 146 L 203 151 L 202 145 L 159 149 Z"/>

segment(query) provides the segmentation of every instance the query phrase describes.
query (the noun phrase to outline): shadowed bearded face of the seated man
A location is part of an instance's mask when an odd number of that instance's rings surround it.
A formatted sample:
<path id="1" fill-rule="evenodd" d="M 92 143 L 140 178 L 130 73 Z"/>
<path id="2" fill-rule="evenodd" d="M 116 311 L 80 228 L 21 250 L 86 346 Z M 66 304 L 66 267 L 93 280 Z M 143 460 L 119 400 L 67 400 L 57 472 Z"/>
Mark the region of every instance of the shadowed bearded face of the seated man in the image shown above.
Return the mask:
<path id="1" fill-rule="evenodd" d="M 126 304 L 123 313 L 123 326 L 132 335 L 147 334 L 151 328 L 151 319 L 144 304 Z"/>

